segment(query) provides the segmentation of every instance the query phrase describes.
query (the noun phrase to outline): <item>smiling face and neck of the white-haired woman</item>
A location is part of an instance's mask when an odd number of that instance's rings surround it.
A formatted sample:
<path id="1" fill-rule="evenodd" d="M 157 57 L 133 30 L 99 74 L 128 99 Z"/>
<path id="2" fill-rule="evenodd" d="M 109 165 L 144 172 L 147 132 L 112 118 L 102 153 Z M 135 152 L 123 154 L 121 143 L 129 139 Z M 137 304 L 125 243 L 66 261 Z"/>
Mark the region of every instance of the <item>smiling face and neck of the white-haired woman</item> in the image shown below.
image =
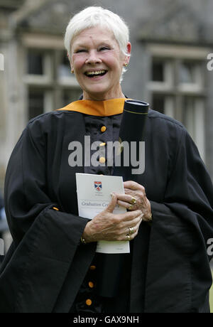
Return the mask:
<path id="1" fill-rule="evenodd" d="M 130 43 L 126 50 L 130 53 Z M 84 100 L 124 97 L 120 77 L 125 63 L 129 57 L 121 53 L 114 33 L 106 28 L 88 28 L 72 40 L 70 64 Z"/>

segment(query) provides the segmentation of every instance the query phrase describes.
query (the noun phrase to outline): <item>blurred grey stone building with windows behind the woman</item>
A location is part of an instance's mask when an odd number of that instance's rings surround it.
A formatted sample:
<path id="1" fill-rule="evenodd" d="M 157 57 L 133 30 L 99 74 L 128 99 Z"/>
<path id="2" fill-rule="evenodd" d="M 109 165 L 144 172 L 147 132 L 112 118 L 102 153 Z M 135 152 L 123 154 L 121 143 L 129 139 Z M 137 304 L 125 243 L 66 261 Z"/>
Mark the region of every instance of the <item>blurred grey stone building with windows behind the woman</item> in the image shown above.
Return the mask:
<path id="1" fill-rule="evenodd" d="M 9 156 L 28 120 L 81 94 L 63 36 L 73 14 L 91 5 L 114 11 L 129 25 L 125 95 L 182 122 L 213 178 L 213 70 L 207 66 L 213 0 L 0 0 L 1 195 Z M 11 242 L 6 228 L 1 210 L 5 250 Z"/>

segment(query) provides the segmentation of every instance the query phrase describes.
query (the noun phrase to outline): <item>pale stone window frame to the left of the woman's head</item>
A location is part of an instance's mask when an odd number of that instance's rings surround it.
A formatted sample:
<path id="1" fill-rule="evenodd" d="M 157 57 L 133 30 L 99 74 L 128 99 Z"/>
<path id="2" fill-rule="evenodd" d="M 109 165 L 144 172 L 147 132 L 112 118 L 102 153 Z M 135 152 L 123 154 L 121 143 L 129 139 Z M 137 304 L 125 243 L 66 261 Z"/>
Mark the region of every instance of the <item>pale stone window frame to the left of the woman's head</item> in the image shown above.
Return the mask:
<path id="1" fill-rule="evenodd" d="M 64 99 L 67 99 L 67 92 L 70 92 L 70 102 L 78 100 L 82 91 L 80 86 L 70 73 L 69 76 L 59 76 L 58 67 L 60 60 L 65 55 L 65 48 L 60 36 L 48 36 L 26 33 L 22 37 L 23 57 L 23 82 L 26 86 L 26 107 L 28 108 L 28 90 L 40 90 L 44 92 L 43 112 L 50 112 L 63 107 Z M 35 50 L 43 53 L 43 75 L 28 74 L 28 50 Z M 68 59 L 67 59 L 68 62 Z M 28 110 L 27 110 L 28 111 Z"/>

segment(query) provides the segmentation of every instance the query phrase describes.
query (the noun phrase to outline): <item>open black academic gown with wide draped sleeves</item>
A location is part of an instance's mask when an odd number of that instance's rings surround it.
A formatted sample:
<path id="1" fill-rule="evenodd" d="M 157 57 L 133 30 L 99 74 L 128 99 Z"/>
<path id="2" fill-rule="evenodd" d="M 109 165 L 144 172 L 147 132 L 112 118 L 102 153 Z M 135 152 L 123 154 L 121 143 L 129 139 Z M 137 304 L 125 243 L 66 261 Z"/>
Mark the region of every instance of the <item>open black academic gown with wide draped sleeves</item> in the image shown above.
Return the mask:
<path id="1" fill-rule="evenodd" d="M 96 248 L 80 244 L 88 220 L 77 215 L 75 173 L 84 167 L 68 164 L 70 142 L 84 144 L 84 134 L 80 112 L 50 112 L 29 122 L 13 150 L 1 312 L 69 312 L 75 301 Z M 149 110 L 145 173 L 129 179 L 146 188 L 153 213 L 144 312 L 208 312 L 212 182 L 182 124 Z M 143 226 L 133 241 L 130 312 L 142 311 Z"/>

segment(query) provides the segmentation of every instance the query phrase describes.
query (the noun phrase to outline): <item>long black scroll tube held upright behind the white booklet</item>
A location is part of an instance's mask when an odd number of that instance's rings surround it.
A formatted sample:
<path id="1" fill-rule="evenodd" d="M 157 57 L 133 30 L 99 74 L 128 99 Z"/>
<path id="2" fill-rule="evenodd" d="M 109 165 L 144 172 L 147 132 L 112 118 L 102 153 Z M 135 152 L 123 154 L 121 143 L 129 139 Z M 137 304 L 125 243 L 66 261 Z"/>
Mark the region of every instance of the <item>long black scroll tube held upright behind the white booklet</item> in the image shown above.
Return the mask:
<path id="1" fill-rule="evenodd" d="M 115 156 L 114 176 L 123 176 L 123 180 L 136 179 L 131 174 L 143 173 L 145 149 L 143 141 L 149 104 L 138 100 L 126 100 L 119 133 L 119 153 Z M 118 164 L 118 165 L 117 165 Z M 131 243 L 130 243 L 131 246 Z M 131 275 L 131 254 L 97 253 L 97 293 L 105 297 L 122 294 L 123 306 L 128 294 Z M 126 293 L 124 292 L 126 290 Z M 123 307 L 122 307 L 123 308 Z"/>

